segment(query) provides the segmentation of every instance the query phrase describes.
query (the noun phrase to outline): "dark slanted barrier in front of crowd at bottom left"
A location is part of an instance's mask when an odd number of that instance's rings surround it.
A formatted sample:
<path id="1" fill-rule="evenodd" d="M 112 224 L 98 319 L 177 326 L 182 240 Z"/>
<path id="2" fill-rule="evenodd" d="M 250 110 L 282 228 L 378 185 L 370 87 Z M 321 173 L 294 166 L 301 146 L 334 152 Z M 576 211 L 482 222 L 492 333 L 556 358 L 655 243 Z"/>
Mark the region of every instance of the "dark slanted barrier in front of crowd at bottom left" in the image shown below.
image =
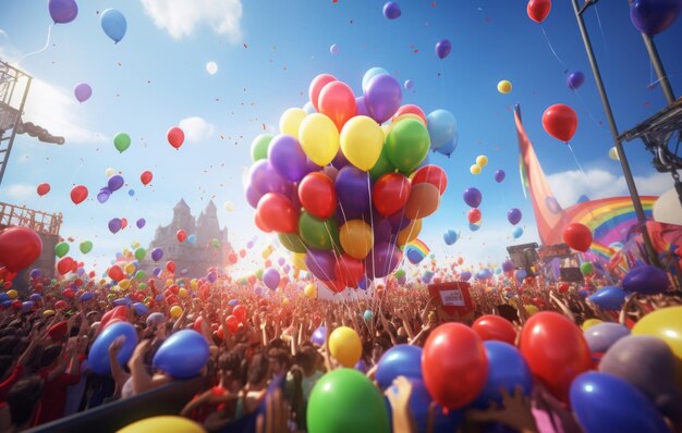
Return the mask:
<path id="1" fill-rule="evenodd" d="M 39 425 L 28 432 L 115 432 L 135 421 L 161 415 L 179 415 L 199 391 L 203 378 L 174 381 L 133 398 L 117 400 L 68 418 Z"/>

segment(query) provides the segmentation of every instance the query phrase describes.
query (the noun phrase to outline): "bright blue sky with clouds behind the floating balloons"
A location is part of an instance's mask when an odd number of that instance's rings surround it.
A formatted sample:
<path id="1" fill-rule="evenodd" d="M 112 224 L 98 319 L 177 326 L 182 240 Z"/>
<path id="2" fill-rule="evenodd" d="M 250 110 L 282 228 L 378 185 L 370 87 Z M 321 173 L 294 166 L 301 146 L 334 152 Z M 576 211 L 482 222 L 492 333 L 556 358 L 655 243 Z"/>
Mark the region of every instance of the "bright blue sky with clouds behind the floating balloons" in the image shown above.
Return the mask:
<path id="1" fill-rule="evenodd" d="M 42 47 L 51 23 L 46 4 L 0 0 L 0 58 L 16 61 Z M 180 197 L 195 214 L 214 198 L 234 246 L 242 248 L 258 235 L 256 248 L 263 248 L 271 237 L 255 227 L 242 187 L 252 139 L 264 125 L 277 133 L 280 114 L 307 101 L 315 75 L 331 73 L 361 95 L 362 75 L 372 66 L 385 67 L 400 82 L 414 82 L 414 88 L 404 92 L 404 103 L 416 103 L 427 113 L 446 109 L 458 120 L 456 151 L 450 159 L 430 157 L 449 176 L 441 207 L 425 221 L 421 235 L 439 259 L 462 255 L 468 264 L 499 263 L 506 246 L 514 243 L 506 219 L 513 207 L 524 214 L 525 234 L 516 243 L 537 240 L 531 203 L 517 175 L 514 102 L 521 102 L 528 135 L 562 205 L 572 205 L 581 194 L 597 198 L 626 193 L 619 163 L 608 157 L 610 133 L 570 2 L 556 1 L 543 26 L 527 17 L 526 2 L 517 0 L 401 1 L 402 16 L 394 21 L 382 16 L 382 4 L 78 1 L 77 18 L 54 26 L 48 49 L 21 62 L 37 78 L 25 120 L 65 136 L 66 145 L 17 137 L 0 201 L 63 212 L 62 235 L 76 239 L 74 258 L 100 271 L 132 242 L 146 245 L 158 224 L 170 222 Z M 127 34 L 118 45 L 99 25 L 98 12 L 107 8 L 120 10 L 127 20 Z M 586 21 L 618 125 L 632 127 L 662 108 L 665 100 L 658 87 L 647 88 L 650 64 L 630 23 L 626 2 L 599 2 Z M 444 60 L 434 52 L 441 38 L 452 42 Z M 673 89 L 682 86 L 680 40 L 680 22 L 656 37 Z M 329 52 L 332 44 L 340 47 L 336 55 Z M 209 61 L 219 66 L 215 75 L 206 72 Z M 567 69 L 586 74 L 579 92 L 565 86 Z M 497 91 L 500 79 L 512 82 L 511 94 Z M 72 94 L 81 82 L 93 87 L 93 97 L 83 104 Z M 553 103 L 568 103 L 579 115 L 572 146 L 585 176 L 568 148 L 543 131 L 543 111 Z M 166 132 L 183 120 L 191 137 L 175 151 L 166 143 Z M 118 132 L 133 138 L 123 153 L 112 145 Z M 650 168 L 650 157 L 640 143 L 628 144 L 626 152 L 643 193 L 672 187 L 669 177 Z M 475 176 L 468 168 L 478 154 L 490 162 Z M 106 185 L 107 168 L 120 171 L 127 185 L 100 205 L 95 196 Z M 497 169 L 508 174 L 502 184 L 492 178 Z M 153 186 L 139 183 L 144 170 L 154 172 Z M 42 182 L 52 190 L 40 198 L 35 187 Z M 73 184 L 84 184 L 90 191 L 77 207 L 69 199 Z M 462 200 L 470 186 L 484 195 L 484 223 L 476 233 L 468 231 L 468 208 Z M 131 188 L 134 197 L 126 194 Z M 233 212 L 223 209 L 226 201 L 234 203 Z M 147 225 L 112 235 L 107 222 L 114 216 L 125 216 L 131 225 L 145 218 Z M 442 240 L 448 228 L 463 235 L 451 247 Z M 88 256 L 75 248 L 85 239 L 95 244 Z M 260 264 L 254 258 L 243 267 Z"/>

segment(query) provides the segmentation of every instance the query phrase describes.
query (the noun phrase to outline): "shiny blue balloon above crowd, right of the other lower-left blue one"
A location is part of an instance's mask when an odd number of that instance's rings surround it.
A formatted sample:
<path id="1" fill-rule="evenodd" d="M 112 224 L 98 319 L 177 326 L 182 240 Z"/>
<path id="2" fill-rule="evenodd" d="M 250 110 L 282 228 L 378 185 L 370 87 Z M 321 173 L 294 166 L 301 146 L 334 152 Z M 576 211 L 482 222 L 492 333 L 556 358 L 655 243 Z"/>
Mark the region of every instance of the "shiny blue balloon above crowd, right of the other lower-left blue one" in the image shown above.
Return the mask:
<path id="1" fill-rule="evenodd" d="M 193 330 L 171 335 L 154 356 L 154 367 L 173 379 L 193 378 L 208 361 L 208 342 Z"/>

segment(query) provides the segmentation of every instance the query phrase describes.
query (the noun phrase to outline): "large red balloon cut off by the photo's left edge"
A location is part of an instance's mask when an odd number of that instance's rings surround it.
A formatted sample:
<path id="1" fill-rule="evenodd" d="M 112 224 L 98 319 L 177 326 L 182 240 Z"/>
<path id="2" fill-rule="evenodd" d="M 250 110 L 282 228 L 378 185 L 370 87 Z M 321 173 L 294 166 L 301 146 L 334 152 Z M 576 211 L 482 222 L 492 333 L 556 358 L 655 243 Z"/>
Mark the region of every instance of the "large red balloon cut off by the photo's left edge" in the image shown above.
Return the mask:
<path id="1" fill-rule="evenodd" d="M 9 227 L 0 232 L 0 264 L 10 272 L 31 265 L 41 251 L 40 236 L 28 227 Z"/>

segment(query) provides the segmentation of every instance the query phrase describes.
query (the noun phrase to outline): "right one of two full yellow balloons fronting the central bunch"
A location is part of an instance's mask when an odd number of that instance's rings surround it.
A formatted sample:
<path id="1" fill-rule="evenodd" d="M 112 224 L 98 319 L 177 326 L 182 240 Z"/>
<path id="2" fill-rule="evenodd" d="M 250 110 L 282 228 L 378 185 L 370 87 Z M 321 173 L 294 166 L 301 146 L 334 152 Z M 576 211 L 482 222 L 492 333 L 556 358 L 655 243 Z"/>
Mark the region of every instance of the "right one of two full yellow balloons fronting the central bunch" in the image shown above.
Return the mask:
<path id="1" fill-rule="evenodd" d="M 362 171 L 372 169 L 381 154 L 383 132 L 366 115 L 356 115 L 343 125 L 340 136 L 343 156 Z"/>

